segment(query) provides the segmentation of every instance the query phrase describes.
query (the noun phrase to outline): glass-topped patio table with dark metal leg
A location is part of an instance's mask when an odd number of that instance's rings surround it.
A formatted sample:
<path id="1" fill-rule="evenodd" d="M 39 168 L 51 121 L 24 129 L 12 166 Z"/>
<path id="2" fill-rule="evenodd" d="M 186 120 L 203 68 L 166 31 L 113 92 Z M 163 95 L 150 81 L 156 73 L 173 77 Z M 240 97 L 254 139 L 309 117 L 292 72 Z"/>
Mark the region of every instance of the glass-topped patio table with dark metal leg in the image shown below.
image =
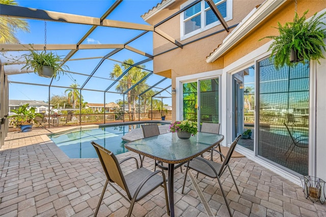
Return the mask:
<path id="1" fill-rule="evenodd" d="M 168 194 L 170 216 L 174 216 L 174 169 L 200 154 L 208 151 L 221 143 L 224 136 L 206 132 L 198 132 L 190 139 L 179 139 L 177 133 L 165 133 L 155 135 L 125 144 L 125 148 L 149 158 L 168 163 Z M 175 167 L 175 164 L 178 164 Z"/>

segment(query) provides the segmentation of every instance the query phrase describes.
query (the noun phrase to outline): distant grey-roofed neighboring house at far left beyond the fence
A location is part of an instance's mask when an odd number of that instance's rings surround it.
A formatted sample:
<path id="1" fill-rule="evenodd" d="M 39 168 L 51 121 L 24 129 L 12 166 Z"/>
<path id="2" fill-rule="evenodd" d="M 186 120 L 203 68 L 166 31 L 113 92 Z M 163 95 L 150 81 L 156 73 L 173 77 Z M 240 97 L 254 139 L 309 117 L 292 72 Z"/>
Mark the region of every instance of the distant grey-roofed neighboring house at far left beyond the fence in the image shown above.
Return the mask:
<path id="1" fill-rule="evenodd" d="M 49 104 L 44 101 L 38 100 L 16 100 L 16 99 L 9 99 L 9 111 L 19 108 L 19 105 L 24 105 L 29 103 L 29 107 L 35 107 L 36 113 L 47 114 Z M 50 110 L 52 109 L 52 104 L 50 104 Z M 9 115 L 14 115 L 14 113 L 9 112 Z"/>

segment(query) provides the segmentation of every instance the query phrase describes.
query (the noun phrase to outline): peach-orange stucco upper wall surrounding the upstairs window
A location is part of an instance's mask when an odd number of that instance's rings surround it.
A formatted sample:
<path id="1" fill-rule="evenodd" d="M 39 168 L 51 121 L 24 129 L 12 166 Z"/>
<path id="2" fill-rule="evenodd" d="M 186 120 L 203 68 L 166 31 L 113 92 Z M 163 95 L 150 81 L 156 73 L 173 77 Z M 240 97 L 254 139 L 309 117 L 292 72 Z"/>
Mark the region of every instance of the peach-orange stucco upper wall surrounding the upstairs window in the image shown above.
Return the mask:
<path id="1" fill-rule="evenodd" d="M 166 9 L 155 14 L 148 20 L 148 23 L 155 25 L 156 23 L 164 20 L 173 13 L 180 10 L 180 6 L 186 1 L 176 1 Z M 241 20 L 247 16 L 255 7 L 262 4 L 263 0 L 246 1 L 246 0 L 234 0 L 233 1 L 233 18 L 228 21 L 228 25 L 232 26 L 241 22 Z M 314 0 L 314 1 L 300 1 L 297 0 L 297 13 L 302 16 L 303 12 L 310 9 L 307 17 L 313 15 L 313 13 L 320 11 L 325 8 L 325 1 Z M 222 43 L 223 39 L 229 35 L 222 25 L 215 26 L 214 28 L 195 35 L 191 38 L 180 41 L 180 15 L 168 20 L 167 22 L 157 26 L 158 29 L 164 31 L 169 36 L 173 37 L 182 44 L 186 44 L 183 48 L 177 47 L 172 42 L 161 37 L 158 34 L 153 34 L 153 54 L 154 54 L 154 73 L 175 78 L 178 76 L 196 74 L 205 71 L 211 71 L 216 69 L 222 69 L 228 66 L 230 63 L 238 60 L 244 55 L 250 53 L 252 50 L 262 46 L 269 39 L 259 41 L 259 39 L 268 35 L 277 35 L 278 30 L 271 28 L 271 26 L 277 26 L 277 22 L 284 24 L 286 21 L 291 21 L 294 16 L 294 1 L 289 0 L 284 3 L 281 8 L 270 15 L 266 21 L 261 23 L 258 28 L 254 29 L 243 38 L 237 44 L 233 45 L 233 48 L 225 53 L 223 57 L 213 63 L 206 63 L 206 58 L 213 52 L 219 44 Z M 212 35 L 210 37 L 201 39 L 199 41 L 187 44 L 193 40 L 201 38 L 203 36 L 212 34 L 217 31 L 221 33 Z M 177 47 L 177 48 L 176 48 Z M 175 48 L 175 49 L 173 49 Z M 166 50 L 173 49 L 169 52 Z M 171 73 L 171 75 L 170 75 Z"/>

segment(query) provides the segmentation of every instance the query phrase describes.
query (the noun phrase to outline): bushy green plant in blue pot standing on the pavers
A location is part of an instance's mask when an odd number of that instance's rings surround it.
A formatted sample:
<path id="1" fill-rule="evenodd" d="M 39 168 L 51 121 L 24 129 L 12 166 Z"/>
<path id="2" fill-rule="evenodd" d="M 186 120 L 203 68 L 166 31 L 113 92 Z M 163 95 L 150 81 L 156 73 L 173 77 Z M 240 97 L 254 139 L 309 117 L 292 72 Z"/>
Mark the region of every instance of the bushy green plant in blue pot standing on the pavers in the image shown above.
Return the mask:
<path id="1" fill-rule="evenodd" d="M 13 118 L 12 123 L 15 127 L 20 127 L 22 132 L 28 132 L 32 130 L 33 123 L 37 123 L 36 117 L 43 118 L 43 115 L 36 113 L 35 107 L 27 108 L 29 104 L 20 105 L 18 109 L 11 110 L 16 113 L 9 118 Z"/>

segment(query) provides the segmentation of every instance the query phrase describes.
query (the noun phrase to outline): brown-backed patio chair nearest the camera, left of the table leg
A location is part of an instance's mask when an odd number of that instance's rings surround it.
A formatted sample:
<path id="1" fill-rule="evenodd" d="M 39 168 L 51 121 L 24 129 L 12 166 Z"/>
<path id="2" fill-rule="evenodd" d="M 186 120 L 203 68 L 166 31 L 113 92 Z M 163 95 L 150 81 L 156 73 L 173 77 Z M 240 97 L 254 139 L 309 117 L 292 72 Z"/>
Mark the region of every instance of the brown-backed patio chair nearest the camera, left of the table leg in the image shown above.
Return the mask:
<path id="1" fill-rule="evenodd" d="M 118 159 L 111 151 L 103 148 L 94 141 L 91 142 L 91 144 L 94 146 L 97 152 L 98 158 L 106 175 L 106 182 L 104 184 L 103 191 L 94 216 L 97 215 L 97 212 L 100 208 L 107 184 L 110 184 L 124 199 L 126 199 L 130 203 L 127 215 L 128 217 L 131 216 L 132 208 L 135 202 L 143 199 L 149 193 L 154 191 L 154 189 L 156 189 L 158 186 L 163 186 L 165 191 L 167 212 L 168 215 L 170 215 L 167 183 L 165 174 L 162 171 L 152 172 L 143 167 L 139 168 L 138 161 L 134 157 L 127 157 L 118 162 Z M 136 161 L 137 170 L 132 171 L 127 175 L 123 175 L 120 168 L 120 164 L 131 158 Z M 158 175 L 158 173 L 161 173 L 161 176 Z M 127 194 L 127 197 L 122 194 L 112 183 L 116 183 L 116 185 L 121 187 L 122 190 Z"/>

